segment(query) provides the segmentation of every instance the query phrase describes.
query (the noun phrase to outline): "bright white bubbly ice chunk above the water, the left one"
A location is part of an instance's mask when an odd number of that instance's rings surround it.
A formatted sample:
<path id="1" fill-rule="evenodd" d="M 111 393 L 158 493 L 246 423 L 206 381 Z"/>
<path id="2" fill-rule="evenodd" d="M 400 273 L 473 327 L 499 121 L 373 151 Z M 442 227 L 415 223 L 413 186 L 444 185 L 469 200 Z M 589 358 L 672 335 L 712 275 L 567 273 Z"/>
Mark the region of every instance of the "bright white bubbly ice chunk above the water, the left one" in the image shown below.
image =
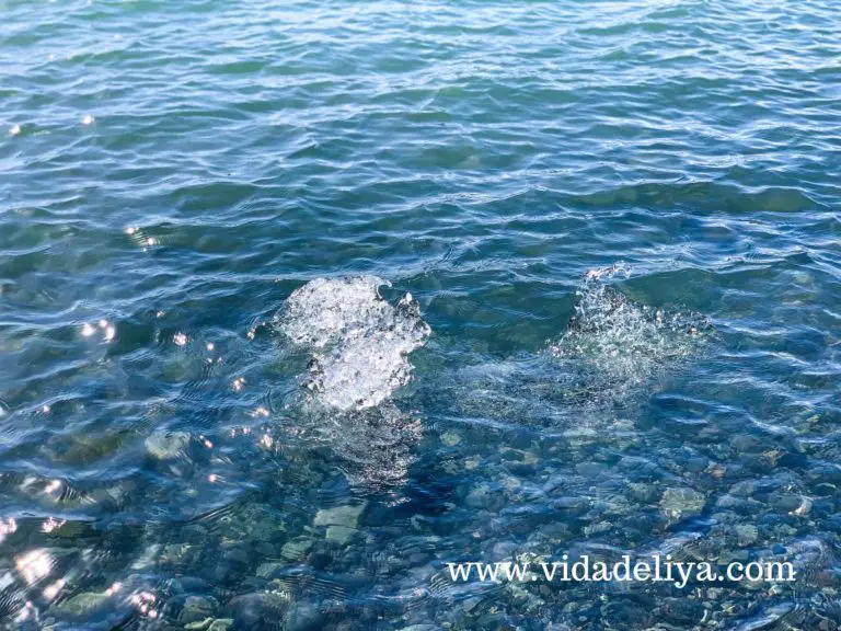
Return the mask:
<path id="1" fill-rule="evenodd" d="M 362 410 L 412 378 L 408 354 L 431 330 L 411 294 L 392 306 L 376 276 L 316 278 L 296 289 L 276 316 L 280 331 L 312 353 L 307 387 L 322 404 Z"/>

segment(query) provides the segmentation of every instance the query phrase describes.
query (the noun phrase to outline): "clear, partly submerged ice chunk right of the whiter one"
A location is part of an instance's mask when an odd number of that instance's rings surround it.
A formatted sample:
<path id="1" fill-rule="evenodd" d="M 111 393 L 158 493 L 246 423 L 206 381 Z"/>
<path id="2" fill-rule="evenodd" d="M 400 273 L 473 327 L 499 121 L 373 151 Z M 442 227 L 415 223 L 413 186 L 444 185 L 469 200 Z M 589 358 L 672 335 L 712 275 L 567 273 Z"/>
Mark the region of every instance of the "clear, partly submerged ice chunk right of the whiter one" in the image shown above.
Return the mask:
<path id="1" fill-rule="evenodd" d="M 612 284 L 627 276 L 622 265 L 588 272 L 567 331 L 544 352 L 457 369 L 442 387 L 453 412 L 561 427 L 610 423 L 638 404 L 704 346 L 712 326 L 696 313 L 630 300 Z"/>

